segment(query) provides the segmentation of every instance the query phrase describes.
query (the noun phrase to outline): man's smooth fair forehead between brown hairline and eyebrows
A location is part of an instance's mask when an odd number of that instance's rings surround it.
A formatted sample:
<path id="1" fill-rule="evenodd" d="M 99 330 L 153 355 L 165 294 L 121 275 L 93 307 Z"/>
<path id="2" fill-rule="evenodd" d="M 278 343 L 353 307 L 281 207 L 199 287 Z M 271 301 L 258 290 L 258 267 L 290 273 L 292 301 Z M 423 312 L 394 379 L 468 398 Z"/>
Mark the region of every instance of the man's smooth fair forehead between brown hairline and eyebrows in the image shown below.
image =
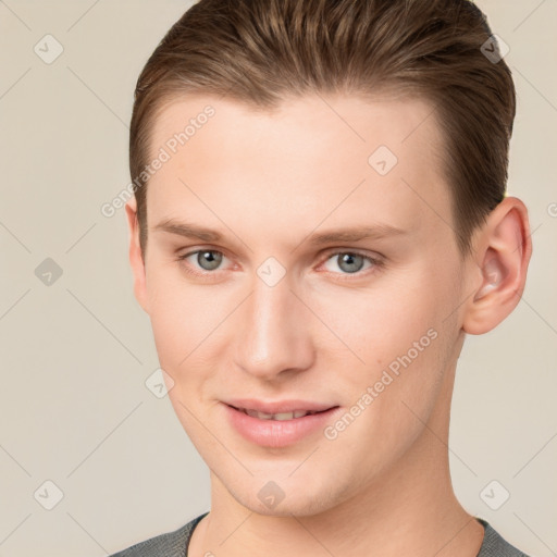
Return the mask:
<path id="1" fill-rule="evenodd" d="M 174 218 L 196 207 L 214 224 L 228 214 L 235 226 L 249 221 L 261 230 L 278 215 L 283 234 L 326 215 L 331 224 L 430 223 L 431 231 L 440 215 L 450 220 L 441 146 L 423 99 L 308 95 L 271 111 L 183 97 L 153 125 L 149 160 L 162 151 L 166 160 L 149 181 L 148 214 Z"/>

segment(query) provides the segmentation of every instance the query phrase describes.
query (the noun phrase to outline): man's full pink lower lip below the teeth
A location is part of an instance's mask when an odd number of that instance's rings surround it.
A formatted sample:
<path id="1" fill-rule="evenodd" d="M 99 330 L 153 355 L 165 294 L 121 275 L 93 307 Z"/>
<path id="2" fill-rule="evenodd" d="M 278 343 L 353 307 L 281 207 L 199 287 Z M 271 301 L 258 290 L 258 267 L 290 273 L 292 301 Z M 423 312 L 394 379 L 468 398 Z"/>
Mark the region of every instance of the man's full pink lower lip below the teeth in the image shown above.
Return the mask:
<path id="1" fill-rule="evenodd" d="M 224 409 L 232 425 L 244 438 L 264 447 L 280 448 L 297 443 L 318 430 L 322 431 L 339 407 L 292 420 L 260 420 L 228 405 L 224 405 Z"/>

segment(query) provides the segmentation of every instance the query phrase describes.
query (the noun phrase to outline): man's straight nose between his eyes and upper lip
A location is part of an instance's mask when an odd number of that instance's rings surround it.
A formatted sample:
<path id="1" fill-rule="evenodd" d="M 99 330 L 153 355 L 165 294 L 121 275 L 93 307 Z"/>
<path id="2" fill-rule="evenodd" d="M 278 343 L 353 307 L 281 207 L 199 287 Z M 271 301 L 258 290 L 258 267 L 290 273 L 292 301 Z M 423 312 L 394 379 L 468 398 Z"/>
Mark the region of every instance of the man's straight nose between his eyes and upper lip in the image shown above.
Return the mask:
<path id="1" fill-rule="evenodd" d="M 287 276 L 274 286 L 255 276 L 236 322 L 235 363 L 245 373 L 274 381 L 311 367 L 310 317 L 290 288 Z"/>

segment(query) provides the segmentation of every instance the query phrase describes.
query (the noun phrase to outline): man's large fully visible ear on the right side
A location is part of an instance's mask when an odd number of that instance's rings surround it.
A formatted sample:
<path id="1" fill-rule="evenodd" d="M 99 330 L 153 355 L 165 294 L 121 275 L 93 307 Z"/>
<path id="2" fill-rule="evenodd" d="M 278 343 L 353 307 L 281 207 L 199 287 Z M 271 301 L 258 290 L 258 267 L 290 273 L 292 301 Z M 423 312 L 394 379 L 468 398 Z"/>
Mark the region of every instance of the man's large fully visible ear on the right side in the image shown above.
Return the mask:
<path id="1" fill-rule="evenodd" d="M 515 197 L 506 197 L 488 215 L 474 238 L 470 272 L 473 295 L 467 305 L 462 329 L 480 335 L 497 326 L 518 305 L 524 290 L 532 255 L 528 210 Z"/>

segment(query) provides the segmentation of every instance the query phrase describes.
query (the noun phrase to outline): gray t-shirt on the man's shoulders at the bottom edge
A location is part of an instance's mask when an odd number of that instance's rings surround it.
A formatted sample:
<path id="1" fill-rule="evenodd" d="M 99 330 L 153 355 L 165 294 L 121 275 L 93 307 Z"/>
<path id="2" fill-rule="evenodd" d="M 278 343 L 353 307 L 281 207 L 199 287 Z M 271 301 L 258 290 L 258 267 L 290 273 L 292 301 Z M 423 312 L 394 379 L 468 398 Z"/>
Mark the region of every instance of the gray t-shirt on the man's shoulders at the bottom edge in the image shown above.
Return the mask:
<path id="1" fill-rule="evenodd" d="M 191 532 L 208 513 L 197 517 L 174 532 L 151 537 L 110 557 L 187 557 Z M 528 557 L 527 554 L 506 542 L 485 520 L 480 518 L 476 520 L 485 530 L 482 547 L 476 557 Z"/>

